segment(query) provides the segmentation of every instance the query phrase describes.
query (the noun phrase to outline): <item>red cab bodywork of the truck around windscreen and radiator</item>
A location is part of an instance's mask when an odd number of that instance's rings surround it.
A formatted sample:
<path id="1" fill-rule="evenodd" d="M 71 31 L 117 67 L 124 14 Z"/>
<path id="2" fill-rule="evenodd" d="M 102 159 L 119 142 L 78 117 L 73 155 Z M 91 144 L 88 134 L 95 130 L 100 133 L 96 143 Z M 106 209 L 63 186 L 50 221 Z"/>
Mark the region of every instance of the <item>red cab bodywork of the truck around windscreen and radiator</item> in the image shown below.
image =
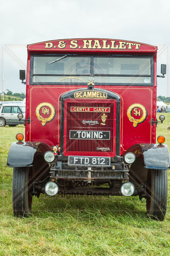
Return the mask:
<path id="1" fill-rule="evenodd" d="M 112 91 L 121 98 L 120 106 L 120 154 L 124 153 L 129 147 L 137 143 L 155 143 L 156 126 L 151 125 L 151 119 L 156 120 L 156 53 L 157 47 L 143 43 L 131 41 L 121 41 L 113 39 L 63 39 L 49 42 L 41 42 L 28 45 L 28 64 L 27 64 L 27 92 L 26 92 L 26 117 L 30 117 L 32 121 L 25 125 L 25 141 L 43 141 L 51 145 L 60 145 L 60 127 L 61 127 L 61 102 L 62 94 L 86 87 L 84 85 L 67 85 L 61 84 L 30 84 L 30 70 L 32 54 L 83 54 L 83 55 L 123 55 L 123 56 L 149 56 L 152 60 L 153 79 L 152 86 L 144 84 L 142 86 L 128 85 L 98 85 L 94 83 L 95 88 Z M 81 81 L 80 81 L 81 82 Z M 88 82 L 88 79 L 87 79 Z M 146 86 L 145 86 L 146 85 Z M 81 98 L 79 98 L 81 99 Z M 89 98 L 90 99 L 90 98 Z M 46 122 L 43 126 L 41 120 L 36 116 L 36 108 L 43 103 L 41 107 L 41 116 L 47 118 L 50 116 L 50 108 L 45 106 L 45 102 L 50 103 L 55 109 L 55 117 Z M 48 113 L 43 114 L 43 106 L 49 109 Z M 128 109 L 132 106 L 130 116 L 139 120 L 137 126 L 130 121 Z M 143 110 L 146 113 L 143 113 Z M 134 111 L 137 111 L 135 112 Z M 139 113 L 139 114 L 135 114 Z M 141 119 L 142 115 L 144 118 Z M 114 139 L 115 136 L 113 136 Z M 114 143 L 114 142 L 113 142 Z M 74 153 L 74 150 L 73 152 Z M 64 151 L 65 155 L 68 155 Z M 88 154 L 84 151 L 84 154 Z M 89 153 L 91 155 L 91 153 Z M 105 152 L 105 156 L 111 156 L 109 152 Z M 112 157 L 115 151 L 112 152 Z"/>

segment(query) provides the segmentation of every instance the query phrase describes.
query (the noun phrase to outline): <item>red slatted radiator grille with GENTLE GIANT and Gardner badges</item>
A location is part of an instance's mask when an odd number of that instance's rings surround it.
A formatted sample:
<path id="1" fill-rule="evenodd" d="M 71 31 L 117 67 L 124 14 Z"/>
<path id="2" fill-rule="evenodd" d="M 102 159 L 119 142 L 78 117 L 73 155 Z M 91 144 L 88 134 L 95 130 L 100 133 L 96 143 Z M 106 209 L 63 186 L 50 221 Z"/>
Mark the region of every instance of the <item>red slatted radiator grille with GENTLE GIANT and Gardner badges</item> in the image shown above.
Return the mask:
<path id="1" fill-rule="evenodd" d="M 88 110 L 87 108 L 89 108 L 91 112 L 87 111 Z M 81 110 L 84 110 L 84 111 L 81 111 Z M 98 110 L 102 112 L 97 112 L 94 110 Z M 68 155 L 94 156 L 95 155 L 95 156 L 109 156 L 109 157 L 113 157 L 115 155 L 116 101 L 114 99 L 110 99 L 110 100 L 66 99 L 64 111 L 65 111 L 64 147 L 63 147 L 64 155 L 66 156 Z M 101 117 L 103 116 L 104 113 L 105 115 L 107 115 L 107 119 L 105 121 L 105 125 L 102 125 L 101 123 L 103 122 L 101 120 Z M 97 123 L 93 124 L 94 121 Z M 71 130 L 110 131 L 110 139 L 109 140 L 70 139 Z"/>

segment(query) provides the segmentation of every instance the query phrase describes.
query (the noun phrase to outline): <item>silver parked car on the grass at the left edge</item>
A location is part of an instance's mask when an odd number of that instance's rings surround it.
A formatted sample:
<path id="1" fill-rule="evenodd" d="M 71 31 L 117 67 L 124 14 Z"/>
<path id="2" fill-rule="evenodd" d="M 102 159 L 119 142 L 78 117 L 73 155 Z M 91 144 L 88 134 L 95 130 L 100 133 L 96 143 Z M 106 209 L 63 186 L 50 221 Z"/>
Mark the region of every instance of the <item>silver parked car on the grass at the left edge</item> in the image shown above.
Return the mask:
<path id="1" fill-rule="evenodd" d="M 19 121 L 18 114 L 22 113 L 25 119 L 25 104 L 16 105 L 16 103 L 11 103 L 7 105 L 2 103 L 0 105 L 0 126 L 9 125 L 10 127 L 14 127 L 19 124 L 24 124 L 24 121 Z"/>

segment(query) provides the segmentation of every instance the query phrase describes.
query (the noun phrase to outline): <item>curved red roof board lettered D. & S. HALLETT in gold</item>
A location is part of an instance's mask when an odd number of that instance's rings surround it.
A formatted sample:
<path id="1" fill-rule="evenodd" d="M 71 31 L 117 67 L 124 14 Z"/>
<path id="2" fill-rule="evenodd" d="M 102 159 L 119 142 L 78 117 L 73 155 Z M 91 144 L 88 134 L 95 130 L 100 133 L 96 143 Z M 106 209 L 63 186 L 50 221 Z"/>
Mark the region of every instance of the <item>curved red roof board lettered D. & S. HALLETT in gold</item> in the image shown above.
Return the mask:
<path id="1" fill-rule="evenodd" d="M 106 38 L 58 39 L 27 45 L 28 51 L 41 52 L 110 52 L 110 53 L 156 53 L 157 46 L 134 41 Z"/>

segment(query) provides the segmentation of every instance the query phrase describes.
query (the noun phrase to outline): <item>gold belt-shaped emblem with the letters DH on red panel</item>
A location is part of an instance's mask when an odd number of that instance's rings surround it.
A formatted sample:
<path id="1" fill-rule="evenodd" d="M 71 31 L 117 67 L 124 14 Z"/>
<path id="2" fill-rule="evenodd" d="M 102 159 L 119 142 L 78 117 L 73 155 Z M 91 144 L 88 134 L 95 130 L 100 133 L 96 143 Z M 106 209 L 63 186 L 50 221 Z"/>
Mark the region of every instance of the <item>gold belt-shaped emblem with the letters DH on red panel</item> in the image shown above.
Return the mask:
<path id="1" fill-rule="evenodd" d="M 40 103 L 36 107 L 36 116 L 41 121 L 43 126 L 45 126 L 46 123 L 52 121 L 55 117 L 55 114 L 56 110 L 54 109 L 53 105 L 48 102 Z"/>

